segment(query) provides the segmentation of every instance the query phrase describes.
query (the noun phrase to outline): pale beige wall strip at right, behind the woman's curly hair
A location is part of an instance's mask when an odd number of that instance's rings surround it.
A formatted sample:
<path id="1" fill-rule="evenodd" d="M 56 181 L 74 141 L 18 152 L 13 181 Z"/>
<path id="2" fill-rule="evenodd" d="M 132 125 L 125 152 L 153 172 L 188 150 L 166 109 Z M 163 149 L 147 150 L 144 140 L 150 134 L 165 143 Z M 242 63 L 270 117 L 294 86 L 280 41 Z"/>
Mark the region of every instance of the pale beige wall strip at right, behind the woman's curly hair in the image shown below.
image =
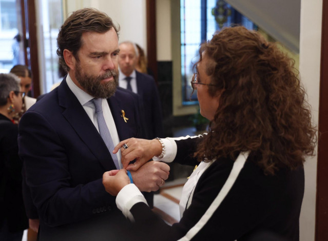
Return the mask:
<path id="1" fill-rule="evenodd" d="M 301 1 L 300 76 L 312 106 L 313 122 L 318 125 L 322 0 Z M 315 238 L 317 156 L 307 158 L 305 193 L 300 216 L 300 241 Z"/>

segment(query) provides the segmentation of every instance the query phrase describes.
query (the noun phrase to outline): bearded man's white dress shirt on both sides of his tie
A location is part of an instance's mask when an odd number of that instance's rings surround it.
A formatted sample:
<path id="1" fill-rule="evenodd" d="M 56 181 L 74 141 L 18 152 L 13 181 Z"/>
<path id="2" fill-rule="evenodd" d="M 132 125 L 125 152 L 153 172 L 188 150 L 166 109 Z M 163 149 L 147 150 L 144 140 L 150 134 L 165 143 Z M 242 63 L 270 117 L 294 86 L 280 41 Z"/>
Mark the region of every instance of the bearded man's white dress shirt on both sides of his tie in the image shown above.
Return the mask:
<path id="1" fill-rule="evenodd" d="M 66 82 L 67 82 L 68 88 L 73 92 L 73 94 L 76 96 L 76 98 L 78 98 L 83 109 L 85 110 L 85 112 L 87 113 L 89 118 L 91 119 L 91 122 L 93 123 L 93 125 L 99 132 L 97 115 L 95 114 L 94 105 L 91 102 L 91 100 L 94 97 L 89 95 L 88 93 L 84 92 L 78 86 L 76 86 L 74 84 L 74 82 L 72 81 L 71 77 L 69 76 L 69 74 L 67 74 Z M 119 138 L 119 134 L 117 132 L 115 122 L 114 122 L 113 116 L 111 114 L 107 99 L 102 99 L 102 109 L 103 109 L 103 114 L 104 114 L 106 125 L 108 127 L 111 138 L 113 140 L 113 144 L 114 144 L 114 146 L 116 146 L 120 143 L 120 138 Z M 120 169 L 121 169 L 123 167 L 122 163 L 121 163 L 121 151 L 119 151 L 116 155 L 118 157 L 119 165 L 120 165 Z"/>

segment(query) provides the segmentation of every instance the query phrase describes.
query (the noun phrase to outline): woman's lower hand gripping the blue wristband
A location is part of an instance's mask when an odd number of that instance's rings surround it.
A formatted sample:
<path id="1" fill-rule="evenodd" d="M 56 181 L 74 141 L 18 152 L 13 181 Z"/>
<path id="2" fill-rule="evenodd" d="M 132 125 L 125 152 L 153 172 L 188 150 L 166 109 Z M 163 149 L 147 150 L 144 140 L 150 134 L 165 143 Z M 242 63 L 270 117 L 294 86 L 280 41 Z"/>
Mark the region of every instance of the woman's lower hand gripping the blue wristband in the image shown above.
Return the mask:
<path id="1" fill-rule="evenodd" d="M 103 174 L 105 190 L 112 196 L 117 196 L 121 189 L 128 184 L 130 184 L 130 178 L 125 169 L 111 170 Z"/>

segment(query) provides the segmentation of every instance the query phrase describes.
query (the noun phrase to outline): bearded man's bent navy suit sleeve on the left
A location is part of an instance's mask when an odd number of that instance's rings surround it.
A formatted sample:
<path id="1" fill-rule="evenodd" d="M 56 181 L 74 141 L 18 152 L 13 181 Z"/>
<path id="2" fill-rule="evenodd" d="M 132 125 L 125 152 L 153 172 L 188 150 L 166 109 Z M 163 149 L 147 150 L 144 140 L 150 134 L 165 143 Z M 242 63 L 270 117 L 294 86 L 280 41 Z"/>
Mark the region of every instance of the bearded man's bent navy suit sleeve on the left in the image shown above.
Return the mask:
<path id="1" fill-rule="evenodd" d="M 89 178 L 88 183 L 71 185 L 68 150 L 40 113 L 31 111 L 24 114 L 18 145 L 33 204 L 42 222 L 48 226 L 78 222 L 97 215 L 94 213 L 96 207 L 107 211 L 115 205 L 114 197 L 102 185 L 102 178 Z M 84 161 L 81 158 L 81 162 Z"/>

